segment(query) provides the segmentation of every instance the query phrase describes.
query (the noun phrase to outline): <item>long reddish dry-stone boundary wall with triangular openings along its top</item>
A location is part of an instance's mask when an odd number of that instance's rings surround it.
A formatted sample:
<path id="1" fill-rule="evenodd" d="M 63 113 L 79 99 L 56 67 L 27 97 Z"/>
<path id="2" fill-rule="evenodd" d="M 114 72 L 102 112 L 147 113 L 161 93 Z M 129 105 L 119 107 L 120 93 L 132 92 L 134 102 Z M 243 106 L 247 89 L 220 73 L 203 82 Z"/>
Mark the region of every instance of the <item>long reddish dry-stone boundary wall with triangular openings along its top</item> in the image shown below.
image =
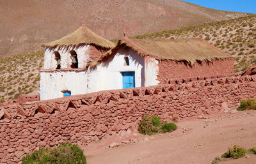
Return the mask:
<path id="1" fill-rule="evenodd" d="M 196 117 L 236 109 L 256 98 L 256 75 L 81 94 L 0 107 L 0 163 L 18 163 L 36 149 L 79 146 L 137 130 L 145 114 Z"/>

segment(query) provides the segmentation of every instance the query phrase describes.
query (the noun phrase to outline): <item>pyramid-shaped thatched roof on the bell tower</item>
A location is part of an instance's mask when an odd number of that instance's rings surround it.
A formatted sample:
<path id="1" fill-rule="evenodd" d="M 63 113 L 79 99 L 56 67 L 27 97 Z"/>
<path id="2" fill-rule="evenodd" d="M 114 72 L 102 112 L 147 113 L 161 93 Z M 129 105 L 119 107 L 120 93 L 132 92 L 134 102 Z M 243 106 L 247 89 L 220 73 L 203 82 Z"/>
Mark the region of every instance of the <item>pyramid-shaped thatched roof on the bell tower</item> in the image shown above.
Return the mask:
<path id="1" fill-rule="evenodd" d="M 95 47 L 110 49 L 115 46 L 115 43 L 106 40 L 96 33 L 93 33 L 86 26 L 81 26 L 74 33 L 68 34 L 59 40 L 52 41 L 51 43 L 45 43 L 43 47 L 55 48 L 55 47 L 76 47 L 79 45 L 94 45 Z"/>

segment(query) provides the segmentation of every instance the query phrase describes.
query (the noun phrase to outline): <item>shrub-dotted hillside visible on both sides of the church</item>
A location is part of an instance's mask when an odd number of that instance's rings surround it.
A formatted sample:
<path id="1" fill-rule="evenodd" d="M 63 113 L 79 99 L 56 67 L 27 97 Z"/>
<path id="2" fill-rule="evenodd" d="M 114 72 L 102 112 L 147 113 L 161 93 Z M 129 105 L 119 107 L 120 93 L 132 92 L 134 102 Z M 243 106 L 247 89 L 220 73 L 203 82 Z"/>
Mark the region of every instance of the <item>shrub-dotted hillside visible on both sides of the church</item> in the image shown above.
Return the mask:
<path id="1" fill-rule="evenodd" d="M 256 63 L 256 16 L 223 20 L 200 26 L 162 31 L 133 38 L 195 38 L 201 37 L 234 56 L 235 71 L 243 71 Z M 0 63 L 0 102 L 20 94 L 39 91 L 44 51 L 2 59 Z"/>

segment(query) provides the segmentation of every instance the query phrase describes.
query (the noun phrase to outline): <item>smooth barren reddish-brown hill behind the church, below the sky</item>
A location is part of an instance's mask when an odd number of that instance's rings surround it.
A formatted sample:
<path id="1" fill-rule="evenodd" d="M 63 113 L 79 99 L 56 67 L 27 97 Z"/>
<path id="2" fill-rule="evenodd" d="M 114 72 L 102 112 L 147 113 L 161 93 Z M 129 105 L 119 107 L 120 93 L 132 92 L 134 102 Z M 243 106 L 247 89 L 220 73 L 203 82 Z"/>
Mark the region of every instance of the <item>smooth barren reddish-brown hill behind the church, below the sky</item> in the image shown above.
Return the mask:
<path id="1" fill-rule="evenodd" d="M 248 15 L 212 10 L 179 0 L 0 1 L 0 56 L 40 49 L 76 30 L 82 20 L 100 36 L 115 39 Z"/>

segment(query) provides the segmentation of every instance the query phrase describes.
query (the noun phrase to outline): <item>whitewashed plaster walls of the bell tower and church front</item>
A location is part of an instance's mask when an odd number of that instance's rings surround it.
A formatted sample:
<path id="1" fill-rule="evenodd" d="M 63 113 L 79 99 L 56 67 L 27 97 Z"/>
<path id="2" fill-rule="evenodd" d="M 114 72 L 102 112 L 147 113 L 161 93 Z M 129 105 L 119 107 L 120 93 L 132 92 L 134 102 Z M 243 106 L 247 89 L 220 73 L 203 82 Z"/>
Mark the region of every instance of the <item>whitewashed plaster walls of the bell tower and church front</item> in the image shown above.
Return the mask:
<path id="1" fill-rule="evenodd" d="M 79 68 L 85 68 L 90 59 L 86 50 L 90 45 L 74 48 L 77 53 Z M 57 61 L 54 59 L 54 48 L 45 49 L 44 69 L 52 71 L 42 71 L 40 73 L 40 86 L 44 93 L 41 100 L 63 97 L 61 91 L 71 91 L 72 95 L 92 93 L 109 89 L 122 89 L 124 71 L 134 71 L 135 87 L 155 86 L 157 80 L 158 61 L 152 57 L 141 57 L 131 48 L 119 48 L 115 56 L 109 57 L 107 61 L 100 63 L 97 68 L 88 71 L 58 70 Z M 61 48 L 58 52 L 61 55 L 61 68 L 70 68 L 72 59 L 70 58 L 72 48 Z M 129 59 L 129 66 L 126 66 L 125 57 Z M 62 76 L 61 76 L 62 75 Z"/>

